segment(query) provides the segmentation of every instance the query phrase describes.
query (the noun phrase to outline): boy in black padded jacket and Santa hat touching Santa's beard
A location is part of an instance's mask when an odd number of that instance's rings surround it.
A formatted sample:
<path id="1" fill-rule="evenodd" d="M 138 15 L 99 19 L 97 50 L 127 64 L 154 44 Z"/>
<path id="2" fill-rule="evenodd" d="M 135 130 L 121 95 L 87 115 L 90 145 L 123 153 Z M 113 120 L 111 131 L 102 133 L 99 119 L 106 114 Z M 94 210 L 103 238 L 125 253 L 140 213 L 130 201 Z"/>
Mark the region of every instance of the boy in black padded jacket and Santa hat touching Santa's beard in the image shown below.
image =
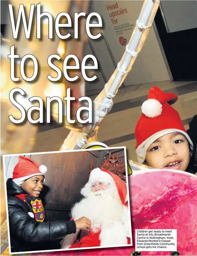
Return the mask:
<path id="1" fill-rule="evenodd" d="M 46 171 L 46 166 L 19 156 L 13 177 L 6 182 L 11 252 L 58 249 L 60 241 L 57 239 L 91 225 L 83 216 L 75 221 L 44 222 L 39 195 Z"/>

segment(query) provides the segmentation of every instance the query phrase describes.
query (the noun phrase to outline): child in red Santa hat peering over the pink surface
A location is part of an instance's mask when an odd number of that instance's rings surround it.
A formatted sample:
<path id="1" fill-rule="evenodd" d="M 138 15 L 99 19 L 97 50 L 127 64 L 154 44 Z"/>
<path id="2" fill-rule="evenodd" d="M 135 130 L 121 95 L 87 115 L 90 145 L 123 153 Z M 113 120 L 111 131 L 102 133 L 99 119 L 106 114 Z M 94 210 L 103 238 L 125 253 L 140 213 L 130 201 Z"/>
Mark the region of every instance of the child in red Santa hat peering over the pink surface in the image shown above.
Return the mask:
<path id="1" fill-rule="evenodd" d="M 195 174 L 196 165 L 190 163 L 193 142 L 178 112 L 171 106 L 177 99 L 176 94 L 164 93 L 156 86 L 149 90 L 148 100 L 141 107 L 143 114 L 135 128 L 137 159 L 139 163 L 153 168 Z"/>

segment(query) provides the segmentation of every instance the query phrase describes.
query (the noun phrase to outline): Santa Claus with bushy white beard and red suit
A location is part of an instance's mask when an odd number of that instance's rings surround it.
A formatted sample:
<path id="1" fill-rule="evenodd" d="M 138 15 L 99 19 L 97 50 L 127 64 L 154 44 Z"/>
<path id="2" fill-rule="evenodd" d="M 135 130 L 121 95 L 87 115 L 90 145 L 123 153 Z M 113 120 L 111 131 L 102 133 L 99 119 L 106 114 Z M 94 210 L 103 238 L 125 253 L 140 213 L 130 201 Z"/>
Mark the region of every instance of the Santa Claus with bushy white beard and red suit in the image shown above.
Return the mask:
<path id="1" fill-rule="evenodd" d="M 130 244 L 127 186 L 119 176 L 96 168 L 81 194 L 84 198 L 74 205 L 71 215 L 74 220 L 85 216 L 91 220 L 91 227 L 67 235 L 62 249 Z"/>

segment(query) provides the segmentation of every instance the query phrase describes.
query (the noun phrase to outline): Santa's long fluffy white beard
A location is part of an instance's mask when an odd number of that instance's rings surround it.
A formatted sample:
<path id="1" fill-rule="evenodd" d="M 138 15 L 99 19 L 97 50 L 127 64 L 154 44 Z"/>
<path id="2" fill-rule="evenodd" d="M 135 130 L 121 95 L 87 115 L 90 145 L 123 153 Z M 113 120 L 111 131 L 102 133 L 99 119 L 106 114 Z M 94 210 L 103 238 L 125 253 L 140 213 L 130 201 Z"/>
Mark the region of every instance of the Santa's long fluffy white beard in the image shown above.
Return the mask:
<path id="1" fill-rule="evenodd" d="M 124 209 L 118 192 L 114 191 L 112 187 L 102 191 L 90 192 L 89 197 L 75 204 L 71 210 L 72 217 L 75 220 L 83 216 L 90 219 L 93 231 L 97 231 L 102 225 L 111 227 L 114 222 L 121 222 L 123 212 Z"/>

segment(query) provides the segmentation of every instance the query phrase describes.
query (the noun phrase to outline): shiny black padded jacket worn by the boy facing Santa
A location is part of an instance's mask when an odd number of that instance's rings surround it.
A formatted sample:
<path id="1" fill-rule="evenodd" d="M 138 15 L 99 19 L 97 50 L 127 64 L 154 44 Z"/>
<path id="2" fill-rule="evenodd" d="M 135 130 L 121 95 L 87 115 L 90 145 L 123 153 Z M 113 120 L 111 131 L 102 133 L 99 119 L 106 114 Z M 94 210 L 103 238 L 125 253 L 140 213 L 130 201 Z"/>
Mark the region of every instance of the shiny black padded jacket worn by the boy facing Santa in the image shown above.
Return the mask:
<path id="1" fill-rule="evenodd" d="M 37 222 L 29 205 L 16 197 L 26 192 L 12 179 L 6 182 L 11 252 L 58 249 L 57 239 L 75 233 L 74 221 Z"/>

